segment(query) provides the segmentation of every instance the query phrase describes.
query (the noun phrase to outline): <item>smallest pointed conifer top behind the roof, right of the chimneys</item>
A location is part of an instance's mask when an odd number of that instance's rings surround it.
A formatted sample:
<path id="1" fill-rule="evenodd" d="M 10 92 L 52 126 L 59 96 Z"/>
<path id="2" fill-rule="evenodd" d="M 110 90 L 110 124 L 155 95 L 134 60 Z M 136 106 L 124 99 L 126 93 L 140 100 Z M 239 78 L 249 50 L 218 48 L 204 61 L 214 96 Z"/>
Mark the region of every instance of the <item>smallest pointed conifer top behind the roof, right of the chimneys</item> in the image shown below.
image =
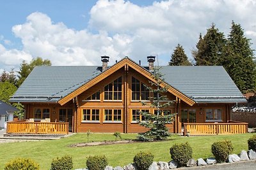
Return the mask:
<path id="1" fill-rule="evenodd" d="M 171 60 L 169 62 L 170 66 L 191 66 L 191 63 L 188 60 L 184 48 L 178 44 L 175 50 L 172 53 Z"/>

